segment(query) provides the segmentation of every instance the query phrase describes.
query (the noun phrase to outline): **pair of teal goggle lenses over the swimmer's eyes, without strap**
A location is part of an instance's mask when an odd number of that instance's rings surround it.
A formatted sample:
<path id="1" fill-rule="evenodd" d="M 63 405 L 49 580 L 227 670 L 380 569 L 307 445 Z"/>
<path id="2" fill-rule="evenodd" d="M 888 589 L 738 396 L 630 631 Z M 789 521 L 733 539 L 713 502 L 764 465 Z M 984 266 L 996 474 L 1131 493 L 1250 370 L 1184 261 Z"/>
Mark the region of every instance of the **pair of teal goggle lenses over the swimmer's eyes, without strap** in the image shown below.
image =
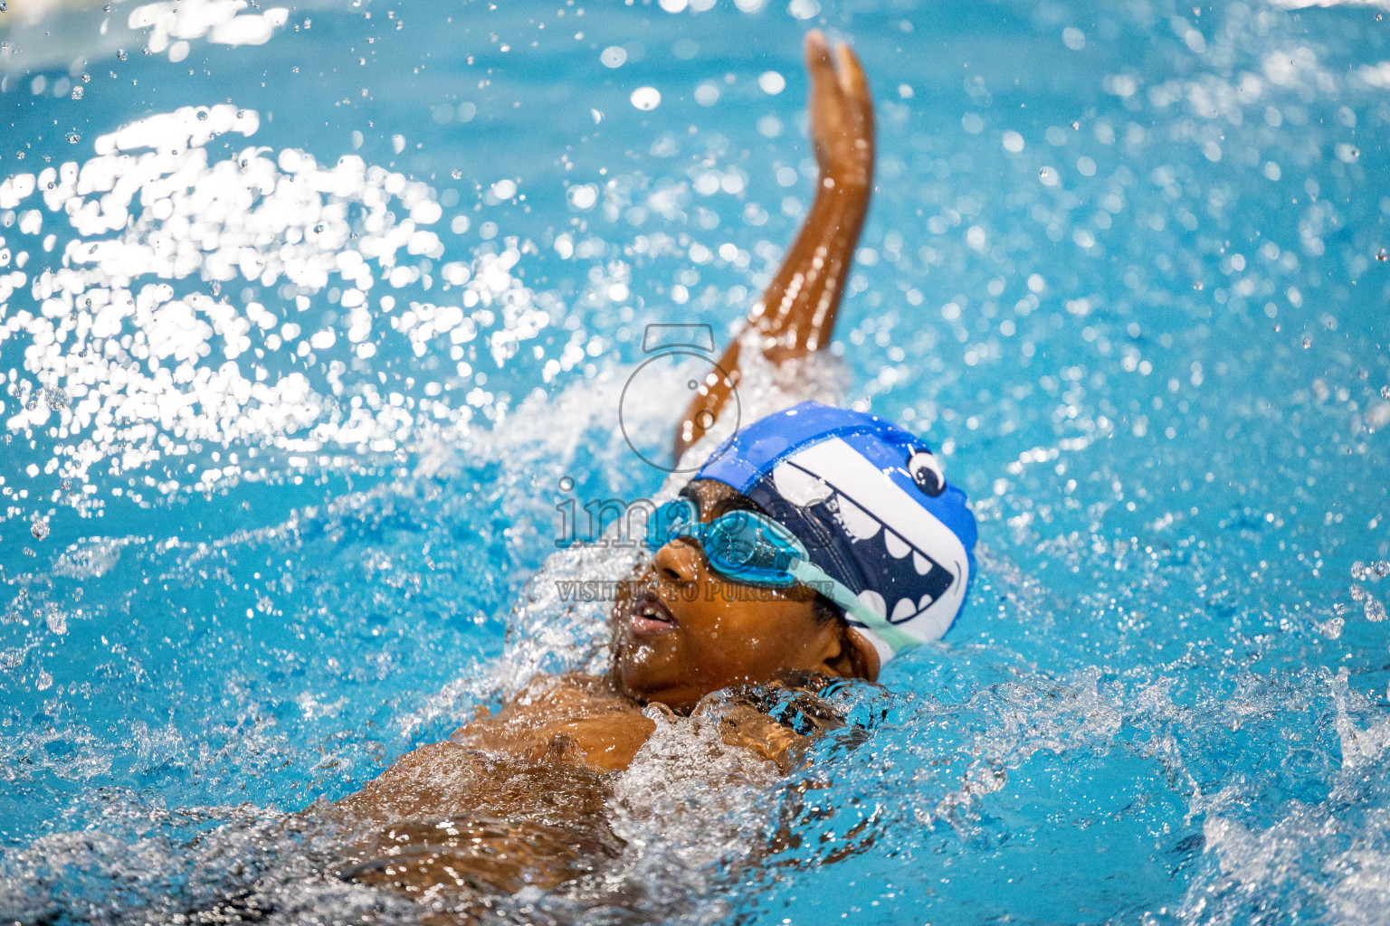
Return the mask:
<path id="1" fill-rule="evenodd" d="M 795 565 L 806 559 L 796 534 L 756 511 L 730 511 L 709 523 L 689 498 L 667 501 L 652 515 L 646 541 L 657 550 L 677 537 L 699 541 L 710 569 L 748 584 L 784 587 L 796 583 Z"/>

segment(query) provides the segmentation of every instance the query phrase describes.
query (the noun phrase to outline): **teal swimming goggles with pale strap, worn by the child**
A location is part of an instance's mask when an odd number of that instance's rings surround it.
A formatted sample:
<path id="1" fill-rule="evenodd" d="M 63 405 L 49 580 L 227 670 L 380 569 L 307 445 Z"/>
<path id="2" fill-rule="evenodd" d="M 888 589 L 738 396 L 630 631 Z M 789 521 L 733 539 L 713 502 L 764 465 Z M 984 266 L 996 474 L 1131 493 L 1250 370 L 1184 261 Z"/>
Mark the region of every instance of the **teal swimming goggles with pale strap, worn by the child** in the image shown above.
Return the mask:
<path id="1" fill-rule="evenodd" d="M 815 565 L 801 537 L 759 511 L 730 511 L 706 523 L 699 519 L 694 501 L 674 498 L 652 514 L 646 544 L 659 550 L 678 537 L 698 541 L 709 568 L 724 579 L 763 589 L 805 584 L 878 634 L 894 653 L 917 644 L 915 637 L 872 611 L 847 584 Z"/>

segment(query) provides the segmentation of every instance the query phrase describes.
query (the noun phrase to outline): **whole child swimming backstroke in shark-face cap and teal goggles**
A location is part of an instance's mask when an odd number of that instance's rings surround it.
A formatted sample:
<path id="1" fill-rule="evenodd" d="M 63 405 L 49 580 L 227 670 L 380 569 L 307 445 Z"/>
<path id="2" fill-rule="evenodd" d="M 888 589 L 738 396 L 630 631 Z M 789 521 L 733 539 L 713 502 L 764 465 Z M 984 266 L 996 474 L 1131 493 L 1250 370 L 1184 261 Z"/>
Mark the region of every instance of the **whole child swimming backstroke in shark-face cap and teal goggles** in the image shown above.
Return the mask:
<path id="1" fill-rule="evenodd" d="M 805 51 L 816 199 L 748 317 L 776 364 L 830 343 L 873 180 L 859 60 L 820 32 Z M 730 344 L 727 376 L 685 411 L 677 457 L 720 415 L 744 348 Z M 655 554 L 612 611 L 610 673 L 537 679 L 342 800 L 336 814 L 371 833 L 342 876 L 439 897 L 553 887 L 600 869 L 621 848 L 607 826 L 609 782 L 656 729 L 644 708 L 691 714 L 712 693 L 808 675 L 877 679 L 895 654 L 951 626 L 974 537 L 965 494 L 912 433 L 816 403 L 756 421 L 653 516 Z M 751 701 L 719 723 L 726 743 L 784 771 L 802 743 Z"/>

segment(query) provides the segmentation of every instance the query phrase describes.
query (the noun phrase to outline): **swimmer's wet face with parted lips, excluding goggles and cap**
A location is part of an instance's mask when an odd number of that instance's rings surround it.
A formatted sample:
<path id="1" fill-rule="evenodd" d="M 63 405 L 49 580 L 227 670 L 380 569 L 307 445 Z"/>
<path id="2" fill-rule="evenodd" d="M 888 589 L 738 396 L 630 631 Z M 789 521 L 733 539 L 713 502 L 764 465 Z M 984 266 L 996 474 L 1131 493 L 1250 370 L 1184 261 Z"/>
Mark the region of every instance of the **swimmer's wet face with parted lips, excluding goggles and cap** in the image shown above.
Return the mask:
<path id="1" fill-rule="evenodd" d="M 702 521 L 738 507 L 738 493 L 724 483 L 691 487 Z M 710 691 L 784 672 L 876 673 L 867 643 L 842 619 L 817 616 L 812 590 L 730 582 L 710 571 L 692 539 L 657 550 L 634 579 L 637 587 L 624 589 L 613 608 L 613 675 L 639 700 L 688 711 Z"/>

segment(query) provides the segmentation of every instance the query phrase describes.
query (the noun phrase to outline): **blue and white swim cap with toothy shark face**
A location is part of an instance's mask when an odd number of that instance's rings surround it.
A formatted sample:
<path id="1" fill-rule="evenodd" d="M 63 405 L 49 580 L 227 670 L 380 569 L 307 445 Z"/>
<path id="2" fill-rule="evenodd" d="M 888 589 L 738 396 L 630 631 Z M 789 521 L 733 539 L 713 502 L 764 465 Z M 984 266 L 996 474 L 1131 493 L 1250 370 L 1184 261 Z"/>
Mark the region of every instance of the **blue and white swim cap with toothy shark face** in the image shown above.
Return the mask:
<path id="1" fill-rule="evenodd" d="M 695 473 L 748 496 L 810 561 L 919 641 L 960 614 L 974 573 L 974 515 L 931 450 L 877 415 L 802 403 L 726 440 Z M 897 651 L 853 618 L 878 651 Z M 901 647 L 899 647 L 901 648 Z"/>

